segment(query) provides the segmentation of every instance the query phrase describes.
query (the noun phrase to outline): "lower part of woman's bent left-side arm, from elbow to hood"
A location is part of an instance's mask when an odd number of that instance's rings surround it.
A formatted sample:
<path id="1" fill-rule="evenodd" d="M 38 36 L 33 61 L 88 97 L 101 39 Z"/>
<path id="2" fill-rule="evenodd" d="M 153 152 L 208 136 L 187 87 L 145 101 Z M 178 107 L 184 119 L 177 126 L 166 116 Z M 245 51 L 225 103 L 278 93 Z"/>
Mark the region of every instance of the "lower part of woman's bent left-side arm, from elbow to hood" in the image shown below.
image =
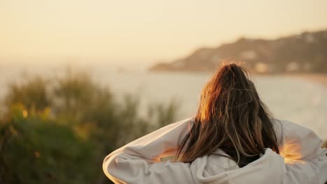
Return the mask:
<path id="1" fill-rule="evenodd" d="M 125 153 L 106 158 L 103 170 L 114 183 L 194 183 L 190 164 L 170 161 L 150 163 Z"/>

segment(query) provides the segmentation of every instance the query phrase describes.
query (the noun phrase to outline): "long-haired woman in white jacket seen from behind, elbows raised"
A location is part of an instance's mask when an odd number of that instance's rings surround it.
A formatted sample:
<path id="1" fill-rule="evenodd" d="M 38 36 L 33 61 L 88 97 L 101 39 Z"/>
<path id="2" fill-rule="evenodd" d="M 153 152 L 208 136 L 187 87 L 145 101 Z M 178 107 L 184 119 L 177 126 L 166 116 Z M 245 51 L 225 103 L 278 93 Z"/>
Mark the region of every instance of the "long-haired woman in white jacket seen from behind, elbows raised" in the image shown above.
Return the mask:
<path id="1" fill-rule="evenodd" d="M 273 118 L 246 70 L 231 63 L 206 84 L 195 117 L 110 153 L 103 171 L 115 183 L 323 184 L 321 144 L 312 130 Z"/>

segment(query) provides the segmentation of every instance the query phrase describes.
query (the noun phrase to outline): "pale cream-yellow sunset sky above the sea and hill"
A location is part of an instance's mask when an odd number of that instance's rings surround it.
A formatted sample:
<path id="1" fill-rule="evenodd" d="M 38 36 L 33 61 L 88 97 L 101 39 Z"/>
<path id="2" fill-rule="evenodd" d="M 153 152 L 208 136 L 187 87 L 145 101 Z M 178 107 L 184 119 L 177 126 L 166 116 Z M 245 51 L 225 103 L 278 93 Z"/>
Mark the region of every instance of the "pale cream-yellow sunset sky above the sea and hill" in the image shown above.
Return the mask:
<path id="1" fill-rule="evenodd" d="M 327 29 L 326 0 L 0 0 L 0 62 L 155 63 Z"/>

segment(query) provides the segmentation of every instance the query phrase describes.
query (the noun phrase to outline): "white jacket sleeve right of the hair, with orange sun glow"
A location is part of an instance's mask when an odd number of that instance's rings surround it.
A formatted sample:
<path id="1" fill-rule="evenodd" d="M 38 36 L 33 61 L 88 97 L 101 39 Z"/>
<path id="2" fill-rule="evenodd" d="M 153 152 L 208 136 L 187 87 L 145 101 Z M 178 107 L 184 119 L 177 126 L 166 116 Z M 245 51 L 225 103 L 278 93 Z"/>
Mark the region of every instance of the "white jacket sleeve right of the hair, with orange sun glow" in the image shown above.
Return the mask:
<path id="1" fill-rule="evenodd" d="M 285 183 L 321 183 L 327 181 L 327 148 L 310 129 L 290 121 L 280 121 L 277 137 L 285 162 Z M 307 181 L 307 182 L 305 182 Z"/>

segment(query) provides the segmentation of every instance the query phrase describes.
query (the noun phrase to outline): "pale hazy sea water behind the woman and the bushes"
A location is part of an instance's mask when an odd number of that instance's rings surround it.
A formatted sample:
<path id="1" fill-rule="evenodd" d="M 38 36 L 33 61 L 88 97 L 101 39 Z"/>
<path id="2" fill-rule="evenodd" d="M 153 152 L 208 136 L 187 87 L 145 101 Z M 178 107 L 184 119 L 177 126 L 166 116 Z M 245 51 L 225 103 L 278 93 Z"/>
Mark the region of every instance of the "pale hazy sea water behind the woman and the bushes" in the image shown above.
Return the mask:
<path id="1" fill-rule="evenodd" d="M 62 66 L 1 66 L 0 97 L 7 93 L 9 82 L 20 82 L 28 75 L 64 75 L 65 70 Z M 108 86 L 117 98 L 125 93 L 139 95 L 141 114 L 146 113 L 149 103 L 175 99 L 179 105 L 177 120 L 194 116 L 201 89 L 211 76 L 209 72 L 146 72 L 96 65 L 75 70 L 89 72 L 95 82 Z M 327 86 L 282 75 L 254 75 L 252 80 L 275 118 L 303 125 L 327 139 Z"/>

